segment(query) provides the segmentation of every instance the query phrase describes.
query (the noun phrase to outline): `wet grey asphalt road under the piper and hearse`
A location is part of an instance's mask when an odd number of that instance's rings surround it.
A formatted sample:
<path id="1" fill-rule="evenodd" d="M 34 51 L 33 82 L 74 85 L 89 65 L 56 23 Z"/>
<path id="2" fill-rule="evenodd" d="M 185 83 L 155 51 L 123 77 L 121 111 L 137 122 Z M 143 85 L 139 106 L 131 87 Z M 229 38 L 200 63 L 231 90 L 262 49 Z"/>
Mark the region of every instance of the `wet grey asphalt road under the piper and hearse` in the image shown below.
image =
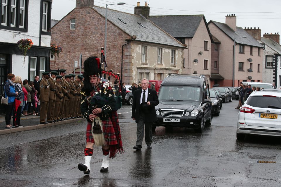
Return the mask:
<path id="1" fill-rule="evenodd" d="M 280 138 L 236 140 L 237 101 L 223 104 L 203 133 L 157 127 L 153 149 L 133 150 L 136 123 L 131 106 L 119 113 L 125 152 L 100 172 L 94 148 L 90 176 L 84 163 L 85 121 L 0 136 L 0 186 L 280 186 Z M 276 163 L 257 163 L 257 161 Z"/>

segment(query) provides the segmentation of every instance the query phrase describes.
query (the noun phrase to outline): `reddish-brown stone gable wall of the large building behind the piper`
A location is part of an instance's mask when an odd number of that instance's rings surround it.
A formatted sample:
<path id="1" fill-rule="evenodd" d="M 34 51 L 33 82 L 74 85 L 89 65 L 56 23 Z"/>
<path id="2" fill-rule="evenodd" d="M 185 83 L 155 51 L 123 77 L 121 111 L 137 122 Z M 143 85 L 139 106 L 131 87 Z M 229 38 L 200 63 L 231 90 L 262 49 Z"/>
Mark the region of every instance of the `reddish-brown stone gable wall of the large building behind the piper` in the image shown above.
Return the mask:
<path id="1" fill-rule="evenodd" d="M 72 18 L 76 19 L 75 30 L 70 29 Z M 74 61 L 79 62 L 80 54 L 82 54 L 82 61 L 89 56 L 100 58 L 101 47 L 104 47 L 104 30 L 105 19 L 100 14 L 90 7 L 75 8 L 52 28 L 51 43 L 60 45 L 63 52 L 59 55 L 59 59 L 56 57 L 54 61 L 50 61 L 50 69 L 64 68 L 67 73 L 71 73 L 74 69 Z M 125 39 L 128 38 L 126 33 L 109 21 L 107 22 L 108 70 L 112 69 L 114 73 L 121 73 L 122 45 L 126 44 Z M 130 56 L 126 54 L 123 58 L 130 59 Z M 123 74 L 128 72 L 130 72 L 129 69 L 123 71 Z"/>

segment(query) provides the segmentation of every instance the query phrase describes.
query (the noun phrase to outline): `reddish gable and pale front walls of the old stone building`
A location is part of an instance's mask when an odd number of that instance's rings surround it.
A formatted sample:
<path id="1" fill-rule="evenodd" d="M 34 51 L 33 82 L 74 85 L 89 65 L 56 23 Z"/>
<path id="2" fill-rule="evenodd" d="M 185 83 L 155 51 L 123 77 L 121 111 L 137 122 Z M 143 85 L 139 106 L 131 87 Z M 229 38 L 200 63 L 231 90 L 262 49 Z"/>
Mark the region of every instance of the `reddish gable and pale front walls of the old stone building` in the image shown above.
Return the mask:
<path id="1" fill-rule="evenodd" d="M 70 29 L 70 19 L 75 19 L 75 29 Z M 52 28 L 51 43 L 60 45 L 63 52 L 59 58 L 50 62 L 51 69 L 64 68 L 67 73 L 73 72 L 74 62 L 83 61 L 89 56 L 100 58 L 101 47 L 104 47 L 105 19 L 90 7 L 75 8 Z M 123 46 L 123 63 L 122 63 Z M 147 46 L 147 63 L 141 63 L 141 46 Z M 163 62 L 157 64 L 157 47 L 163 49 Z M 175 65 L 170 65 L 171 49 L 175 49 Z M 141 78 L 161 79 L 169 73 L 180 73 L 183 63 L 183 49 L 157 45 L 133 40 L 128 34 L 107 20 L 106 62 L 108 70 L 120 73 L 122 82 L 131 84 Z M 121 70 L 121 67 L 122 70 Z M 122 73 L 121 73 L 122 72 Z M 148 74 L 147 74 L 148 73 Z M 148 75 L 148 77 L 146 77 Z"/>

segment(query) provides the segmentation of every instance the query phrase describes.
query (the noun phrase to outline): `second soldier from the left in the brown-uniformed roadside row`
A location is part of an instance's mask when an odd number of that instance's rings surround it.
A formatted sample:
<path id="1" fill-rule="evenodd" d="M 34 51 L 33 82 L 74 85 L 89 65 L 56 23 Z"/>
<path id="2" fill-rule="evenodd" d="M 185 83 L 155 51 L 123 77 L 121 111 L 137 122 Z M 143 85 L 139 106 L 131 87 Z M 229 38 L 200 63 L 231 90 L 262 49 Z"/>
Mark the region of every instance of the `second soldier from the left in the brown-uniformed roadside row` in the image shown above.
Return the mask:
<path id="1" fill-rule="evenodd" d="M 49 94 L 49 106 L 48 106 L 48 113 L 47 113 L 47 121 L 49 123 L 56 122 L 54 120 L 54 108 L 56 104 L 56 89 L 55 89 L 55 78 L 57 76 L 58 72 L 51 71 L 51 77 L 48 79 L 49 85 L 50 85 L 50 94 Z"/>

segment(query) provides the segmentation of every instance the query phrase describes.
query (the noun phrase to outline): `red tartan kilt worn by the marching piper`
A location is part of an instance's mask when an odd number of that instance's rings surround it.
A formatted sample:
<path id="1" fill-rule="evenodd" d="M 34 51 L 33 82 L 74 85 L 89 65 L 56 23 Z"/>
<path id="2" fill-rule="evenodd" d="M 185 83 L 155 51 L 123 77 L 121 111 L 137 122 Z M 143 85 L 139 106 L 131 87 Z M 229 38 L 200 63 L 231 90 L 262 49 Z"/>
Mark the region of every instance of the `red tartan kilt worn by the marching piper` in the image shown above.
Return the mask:
<path id="1" fill-rule="evenodd" d="M 107 120 L 102 120 L 103 134 L 107 145 L 118 145 L 122 147 L 121 133 L 119 128 L 119 120 L 116 111 L 112 111 L 110 117 Z M 115 128 L 114 128 L 115 127 Z M 88 122 L 86 131 L 86 143 L 94 142 L 92 136 L 92 122 Z M 121 145 L 120 145 L 121 144 Z"/>

